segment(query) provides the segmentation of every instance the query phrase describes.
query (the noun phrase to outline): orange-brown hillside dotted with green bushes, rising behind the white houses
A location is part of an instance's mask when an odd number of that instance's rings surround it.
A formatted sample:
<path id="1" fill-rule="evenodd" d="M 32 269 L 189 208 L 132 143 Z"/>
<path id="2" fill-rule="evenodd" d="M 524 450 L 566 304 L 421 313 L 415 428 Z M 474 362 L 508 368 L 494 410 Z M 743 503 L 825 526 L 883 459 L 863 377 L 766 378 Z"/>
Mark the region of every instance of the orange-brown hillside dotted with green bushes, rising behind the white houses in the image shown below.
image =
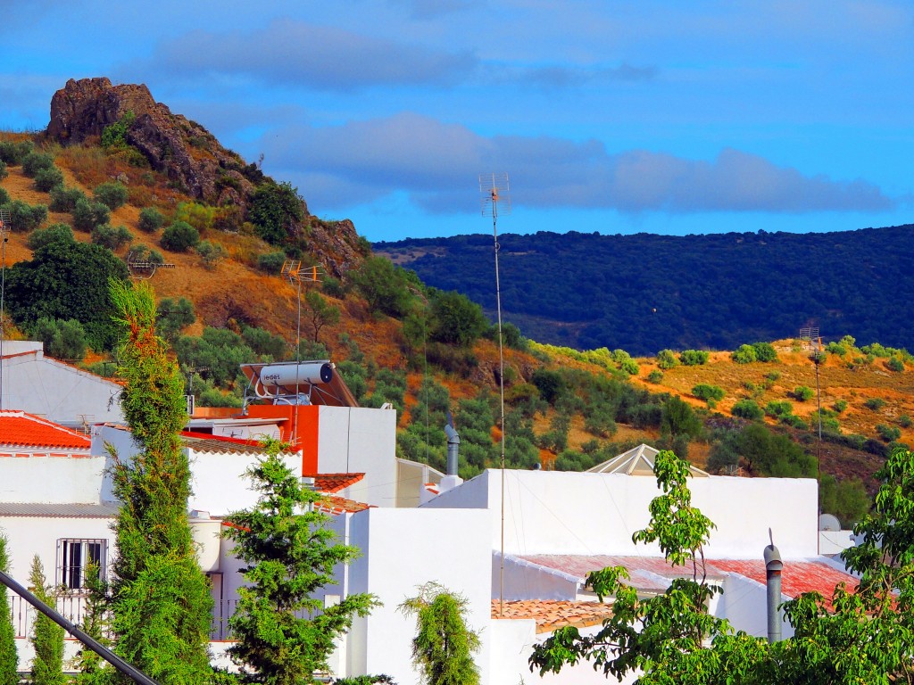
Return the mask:
<path id="1" fill-rule="evenodd" d="M 85 88 L 75 90 L 83 93 Z M 121 87 L 113 87 L 117 88 Z M 128 92 L 137 106 L 135 98 L 143 92 Z M 256 164 L 226 152 L 211 136 L 200 133 L 205 130 L 199 124 L 185 124 L 170 112 L 165 116 L 158 105 L 147 102 L 146 106 L 161 115 L 158 125 L 176 127 L 163 135 L 170 136 L 175 146 L 184 145 L 184 153 L 158 161 L 145 156 L 142 146 L 131 142 L 133 124 L 125 124 L 121 131 L 125 114 L 117 108 L 109 112 L 111 123 L 100 128 L 90 121 L 87 126 L 95 127 L 91 134 L 71 128 L 67 140 L 55 139 L 49 132 L 0 133 L 0 157 L 22 144 L 31 155 L 5 164 L 0 189 L 12 202 L 4 206 L 25 203 L 27 211 L 22 206 L 16 210 L 26 211 L 22 216 L 32 210 L 40 214 L 40 205 L 54 207 L 64 191 L 82 195 L 82 201 L 91 204 L 102 196 L 102 186 L 122 187 L 127 201 L 110 210 L 104 227 L 123 227 L 129 237 L 112 246 L 117 258 L 128 260 L 141 250 L 147 255 L 160 252 L 165 263 L 174 265 L 174 269 L 158 269 L 151 282 L 157 296 L 170 301 L 161 314 L 163 334 L 193 379 L 198 406 L 239 406 L 244 392 L 238 378 L 240 362 L 294 358 L 297 290 L 281 278 L 279 270 L 283 259 L 290 257 L 318 266 L 321 282 L 303 283 L 303 354 L 330 356 L 363 405 L 390 402 L 398 408 L 402 456 L 440 467 L 445 447 L 442 427 L 450 410 L 462 434 L 462 475 L 469 477 L 497 465 L 497 441 L 502 434 L 496 401 L 498 349 L 478 305 L 428 288 L 409 272 L 393 269 L 387 259 L 372 255 L 351 222 L 311 216 L 297 189 L 288 186 L 292 193 L 285 193 L 286 184 L 277 184 Z M 89 103 L 83 103 L 83 109 L 96 111 Z M 122 142 L 105 145 L 104 140 L 111 140 L 112 126 L 122 133 Z M 144 121 L 139 129 L 142 140 L 149 137 L 149 126 Z M 189 138 L 185 127 L 193 133 Z M 195 191 L 184 177 L 176 177 L 179 171 L 170 165 L 175 158 L 215 160 L 204 164 L 201 174 L 215 174 L 216 180 L 223 179 L 221 185 L 200 176 Z M 60 174 L 59 183 L 50 190 L 38 189 L 41 179 L 32 168 L 42 160 Z M 231 173 L 241 174 L 240 169 L 247 174 L 241 175 L 252 179 L 250 187 L 226 181 L 223 164 L 231 166 Z M 244 196 L 235 203 L 230 195 L 207 195 L 207 188 L 217 187 L 231 187 Z M 260 213 L 259 203 L 265 194 L 275 199 L 277 193 L 294 201 L 285 205 L 284 220 L 271 225 L 270 213 Z M 143 227 L 143 217 L 151 210 L 161 215 L 162 226 Z M 53 324 L 58 326 L 67 319 L 87 326 L 93 317 L 96 323 L 101 319 L 101 325 L 110 322 L 102 300 L 97 300 L 97 311 L 85 311 L 83 300 L 89 300 L 90 293 L 76 285 L 87 276 L 80 264 L 58 262 L 55 269 L 67 274 L 42 272 L 43 280 L 53 281 L 53 287 L 43 293 L 35 289 L 37 283 L 26 282 L 33 273 L 27 269 L 36 263 L 47 266 L 56 250 L 72 241 L 83 246 L 98 243 L 93 248 L 98 254 L 111 255 L 103 247 L 105 231 L 98 226 L 78 227 L 78 214 L 75 208 L 58 207 L 48 211 L 37 228 L 14 226 L 18 230 L 10 236 L 5 253 L 10 289 L 6 301 L 16 325 L 27 334 L 35 335 L 39 329 L 49 334 L 47 326 L 37 325 L 36 312 L 58 320 Z M 201 242 L 196 248 L 175 248 L 166 240 L 166 234 L 182 223 L 197 231 Z M 72 237 L 49 237 L 54 231 L 47 227 L 61 224 Z M 271 226 L 278 230 L 266 230 Z M 45 247 L 35 247 L 39 244 Z M 216 252 L 218 258 L 212 258 L 212 246 L 221 250 Z M 123 269 L 122 261 L 115 261 Z M 489 272 L 482 265 L 479 269 Z M 86 282 L 99 281 L 99 274 L 88 276 L 94 281 Z M 515 288 L 512 278 L 503 276 L 505 287 Z M 103 297 L 107 280 L 99 282 Z M 792 290 L 784 290 L 784 300 L 793 297 Z M 186 299 L 189 315 L 175 318 L 175 311 L 182 309 L 177 306 L 180 299 Z M 317 311 L 324 311 L 324 319 L 315 328 L 314 321 L 321 318 Z M 741 342 L 762 339 L 753 331 L 732 329 Z M 655 357 L 632 360 L 608 350 L 581 354 L 526 340 L 515 331 L 507 333 L 505 458 L 515 468 L 541 464 L 547 469 L 585 469 L 646 441 L 674 448 L 699 467 L 710 461 L 715 469 L 738 469 L 748 476 L 814 476 L 821 455 L 824 474 L 872 490 L 872 473 L 888 443 L 914 442 L 909 418 L 914 416 L 910 399 L 914 360 L 899 351 L 861 349 L 848 343 L 843 354 L 833 349 L 827 355 L 820 365 L 826 423 L 820 447 L 811 430 L 816 424 L 814 399 L 799 401 L 790 396 L 800 386 L 815 387 L 809 352 L 792 339 L 776 343 L 776 361 L 736 364 L 729 353 L 718 352 L 708 355 L 707 364 L 676 364 L 658 375 Z M 110 373 L 113 364 L 91 364 L 111 359 L 110 346 L 99 344 L 81 361 L 90 369 Z M 718 386 L 722 397 L 713 406 L 699 400 L 693 394 L 699 384 Z M 740 400 L 752 400 L 760 408 L 790 402 L 791 411 L 786 417 L 760 416 L 757 421 L 734 417 Z M 828 413 L 841 403 L 846 406 L 840 412 Z M 740 443 L 761 426 L 764 432 L 753 439 L 771 443 L 763 453 Z M 880 426 L 891 432 L 880 435 Z M 845 518 L 856 515 L 856 510 L 846 507 L 841 511 Z"/>

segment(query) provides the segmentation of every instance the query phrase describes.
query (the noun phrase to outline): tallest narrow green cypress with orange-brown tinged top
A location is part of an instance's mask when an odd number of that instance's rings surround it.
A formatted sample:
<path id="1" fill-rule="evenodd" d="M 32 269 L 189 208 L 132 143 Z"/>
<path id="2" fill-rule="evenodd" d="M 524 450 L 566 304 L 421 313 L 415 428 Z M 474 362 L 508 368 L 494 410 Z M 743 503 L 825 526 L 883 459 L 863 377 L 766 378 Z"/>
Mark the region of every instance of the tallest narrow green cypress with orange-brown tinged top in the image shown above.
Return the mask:
<path id="1" fill-rule="evenodd" d="M 161 683 L 204 682 L 211 673 L 213 602 L 187 522 L 184 378 L 155 335 L 148 284 L 112 281 L 111 291 L 122 327 L 121 406 L 140 448 L 129 461 L 112 453 L 114 494 L 121 501 L 114 524 L 115 650 Z"/>

